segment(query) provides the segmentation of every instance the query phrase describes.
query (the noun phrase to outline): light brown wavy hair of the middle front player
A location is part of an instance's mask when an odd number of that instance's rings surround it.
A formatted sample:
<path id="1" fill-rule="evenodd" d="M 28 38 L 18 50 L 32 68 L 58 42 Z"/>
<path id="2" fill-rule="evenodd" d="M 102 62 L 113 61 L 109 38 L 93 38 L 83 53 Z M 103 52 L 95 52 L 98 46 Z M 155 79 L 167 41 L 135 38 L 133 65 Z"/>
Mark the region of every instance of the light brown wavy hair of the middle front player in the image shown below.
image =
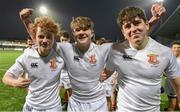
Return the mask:
<path id="1" fill-rule="evenodd" d="M 71 29 L 76 29 L 76 28 L 94 28 L 94 23 L 89 17 L 76 17 L 73 18 L 70 24 Z"/>

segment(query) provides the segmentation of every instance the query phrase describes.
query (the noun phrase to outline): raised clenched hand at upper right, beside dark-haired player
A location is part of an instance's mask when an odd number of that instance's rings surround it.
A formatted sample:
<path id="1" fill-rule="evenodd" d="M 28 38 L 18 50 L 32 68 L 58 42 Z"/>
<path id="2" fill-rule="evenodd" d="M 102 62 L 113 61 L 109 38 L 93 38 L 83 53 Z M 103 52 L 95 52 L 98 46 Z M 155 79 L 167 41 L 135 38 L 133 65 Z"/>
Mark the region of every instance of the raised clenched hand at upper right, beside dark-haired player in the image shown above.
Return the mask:
<path id="1" fill-rule="evenodd" d="M 155 3 L 151 7 L 152 16 L 156 19 L 160 19 L 160 17 L 166 12 L 166 9 L 161 4 Z"/>

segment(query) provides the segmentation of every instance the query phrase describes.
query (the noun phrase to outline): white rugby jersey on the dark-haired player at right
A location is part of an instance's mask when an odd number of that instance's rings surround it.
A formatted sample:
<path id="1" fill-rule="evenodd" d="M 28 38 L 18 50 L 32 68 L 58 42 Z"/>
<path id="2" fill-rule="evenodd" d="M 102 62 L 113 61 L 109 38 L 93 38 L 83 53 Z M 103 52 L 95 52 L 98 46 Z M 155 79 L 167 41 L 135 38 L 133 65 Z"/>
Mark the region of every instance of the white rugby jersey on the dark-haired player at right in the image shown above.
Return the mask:
<path id="1" fill-rule="evenodd" d="M 149 37 L 146 47 L 125 49 L 127 55 L 110 51 L 107 68 L 120 75 L 118 111 L 160 111 L 161 77 L 165 71 L 170 79 L 180 77 L 175 56 L 170 48 Z"/>

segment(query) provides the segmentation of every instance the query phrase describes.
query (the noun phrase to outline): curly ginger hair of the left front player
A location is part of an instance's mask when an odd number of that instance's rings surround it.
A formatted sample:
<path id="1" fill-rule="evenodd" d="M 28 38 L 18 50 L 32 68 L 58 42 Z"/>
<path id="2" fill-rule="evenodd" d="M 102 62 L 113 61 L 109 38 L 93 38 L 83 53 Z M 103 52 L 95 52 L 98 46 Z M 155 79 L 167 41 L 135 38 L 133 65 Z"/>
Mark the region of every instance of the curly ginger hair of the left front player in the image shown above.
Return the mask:
<path id="1" fill-rule="evenodd" d="M 60 24 L 56 23 L 50 16 L 37 17 L 34 20 L 35 31 L 37 27 L 41 27 L 51 33 L 57 35 L 60 32 Z"/>

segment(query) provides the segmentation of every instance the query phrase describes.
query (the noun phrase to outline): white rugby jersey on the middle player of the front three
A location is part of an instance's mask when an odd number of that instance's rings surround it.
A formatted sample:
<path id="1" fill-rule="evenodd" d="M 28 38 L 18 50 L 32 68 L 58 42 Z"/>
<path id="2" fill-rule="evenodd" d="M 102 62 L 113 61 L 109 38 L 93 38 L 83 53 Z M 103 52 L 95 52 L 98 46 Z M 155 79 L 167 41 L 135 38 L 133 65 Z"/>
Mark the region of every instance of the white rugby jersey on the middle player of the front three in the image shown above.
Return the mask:
<path id="1" fill-rule="evenodd" d="M 91 43 L 82 55 L 70 43 L 57 44 L 57 51 L 63 57 L 72 86 L 72 98 L 80 102 L 91 102 L 105 97 L 100 83 L 100 74 L 107 61 L 111 44 Z"/>

